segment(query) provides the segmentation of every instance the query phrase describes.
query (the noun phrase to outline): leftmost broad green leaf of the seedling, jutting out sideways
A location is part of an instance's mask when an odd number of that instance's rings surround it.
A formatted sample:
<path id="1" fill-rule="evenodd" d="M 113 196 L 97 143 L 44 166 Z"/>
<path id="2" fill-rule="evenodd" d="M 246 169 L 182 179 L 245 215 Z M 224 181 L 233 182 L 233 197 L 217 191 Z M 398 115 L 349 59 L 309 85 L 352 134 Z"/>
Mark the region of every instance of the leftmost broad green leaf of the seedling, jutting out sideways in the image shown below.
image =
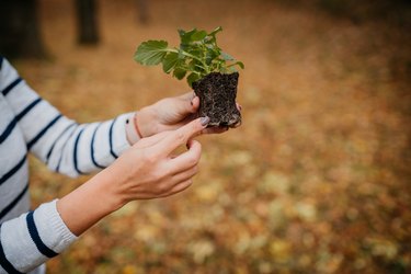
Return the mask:
<path id="1" fill-rule="evenodd" d="M 145 66 L 158 65 L 167 55 L 165 41 L 147 41 L 137 48 L 134 59 Z"/>

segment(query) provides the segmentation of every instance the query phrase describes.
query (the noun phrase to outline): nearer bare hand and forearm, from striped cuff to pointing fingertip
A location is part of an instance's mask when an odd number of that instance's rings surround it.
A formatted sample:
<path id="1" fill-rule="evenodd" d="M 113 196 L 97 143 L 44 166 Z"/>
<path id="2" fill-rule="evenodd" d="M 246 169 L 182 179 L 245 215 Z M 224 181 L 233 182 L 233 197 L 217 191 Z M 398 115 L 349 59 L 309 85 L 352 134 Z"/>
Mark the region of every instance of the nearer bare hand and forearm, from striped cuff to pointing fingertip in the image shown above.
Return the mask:
<path id="1" fill-rule="evenodd" d="M 130 201 L 165 197 L 187 189 L 202 152 L 192 138 L 208 122 L 208 117 L 197 118 L 176 130 L 139 140 L 112 165 L 59 199 L 57 209 L 67 227 L 79 236 Z M 181 145 L 187 151 L 173 155 Z"/>

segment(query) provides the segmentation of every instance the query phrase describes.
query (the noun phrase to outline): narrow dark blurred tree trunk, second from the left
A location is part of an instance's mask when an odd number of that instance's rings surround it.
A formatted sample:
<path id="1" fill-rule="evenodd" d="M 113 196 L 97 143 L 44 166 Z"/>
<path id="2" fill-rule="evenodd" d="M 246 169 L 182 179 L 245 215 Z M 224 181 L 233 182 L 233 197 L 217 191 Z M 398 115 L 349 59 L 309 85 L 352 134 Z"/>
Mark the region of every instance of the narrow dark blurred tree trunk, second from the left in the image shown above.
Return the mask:
<path id="1" fill-rule="evenodd" d="M 95 0 L 76 0 L 78 41 L 95 45 L 100 41 Z"/>

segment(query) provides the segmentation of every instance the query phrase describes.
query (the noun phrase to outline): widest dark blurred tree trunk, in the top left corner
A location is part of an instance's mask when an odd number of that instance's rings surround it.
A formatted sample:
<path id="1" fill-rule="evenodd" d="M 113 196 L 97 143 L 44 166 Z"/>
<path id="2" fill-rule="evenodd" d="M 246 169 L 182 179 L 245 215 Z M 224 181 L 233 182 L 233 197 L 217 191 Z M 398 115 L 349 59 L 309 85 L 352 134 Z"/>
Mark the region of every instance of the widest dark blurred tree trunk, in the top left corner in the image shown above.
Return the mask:
<path id="1" fill-rule="evenodd" d="M 0 2 L 0 54 L 9 58 L 44 58 L 37 0 Z"/>

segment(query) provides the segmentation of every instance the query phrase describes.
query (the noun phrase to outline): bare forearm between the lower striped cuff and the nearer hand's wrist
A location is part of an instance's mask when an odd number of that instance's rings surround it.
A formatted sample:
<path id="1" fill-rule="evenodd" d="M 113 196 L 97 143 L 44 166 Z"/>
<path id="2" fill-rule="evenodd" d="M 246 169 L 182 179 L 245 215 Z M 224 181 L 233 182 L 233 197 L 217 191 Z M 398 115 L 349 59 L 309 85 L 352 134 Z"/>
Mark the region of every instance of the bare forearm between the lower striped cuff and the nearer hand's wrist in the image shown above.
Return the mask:
<path id="1" fill-rule="evenodd" d="M 57 209 L 72 233 L 80 236 L 124 205 L 113 180 L 111 169 L 105 169 L 57 202 Z"/>

